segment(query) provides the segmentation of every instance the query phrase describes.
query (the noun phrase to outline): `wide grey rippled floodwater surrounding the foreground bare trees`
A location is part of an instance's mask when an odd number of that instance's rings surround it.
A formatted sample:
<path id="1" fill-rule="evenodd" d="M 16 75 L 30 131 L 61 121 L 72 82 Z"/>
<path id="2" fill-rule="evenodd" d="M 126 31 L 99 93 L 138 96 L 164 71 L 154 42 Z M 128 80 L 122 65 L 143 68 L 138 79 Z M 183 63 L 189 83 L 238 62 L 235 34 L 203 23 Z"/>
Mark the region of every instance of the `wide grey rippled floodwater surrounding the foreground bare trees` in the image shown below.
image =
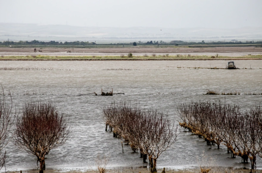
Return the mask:
<path id="1" fill-rule="evenodd" d="M 203 95 L 208 90 L 222 92 L 262 93 L 262 60 L 235 61 L 239 70 L 189 69 L 186 67 L 224 68 L 227 61 L 1 61 L 2 67 L 52 68 L 61 70 L 0 70 L 0 83 L 10 91 L 17 110 L 23 103 L 52 100 L 59 111 L 72 121 L 72 134 L 63 145 L 50 151 L 47 168 L 84 169 L 95 167 L 97 154 L 109 158 L 110 167 L 148 166 L 140 154 L 132 153 L 105 132 L 101 107 L 114 101 L 140 103 L 142 108 L 158 108 L 177 117 L 176 106 L 192 100 L 225 100 L 244 109 L 260 104 L 262 95 Z M 181 68 L 177 68 L 181 67 Z M 184 67 L 184 68 L 183 68 Z M 252 69 L 249 69 L 249 68 Z M 63 70 L 67 69 L 67 70 Z M 129 69 L 129 70 L 128 70 Z M 125 95 L 95 96 L 78 94 L 103 91 Z M 36 95 L 33 95 L 36 94 Z M 183 130 L 183 129 L 181 129 Z M 7 170 L 37 168 L 35 156 L 8 144 Z M 231 158 L 227 148 L 210 148 L 203 138 L 181 132 L 178 141 L 158 158 L 158 167 L 197 166 L 202 155 L 214 166 L 250 167 L 241 158 Z M 250 162 L 250 161 L 248 161 Z M 256 164 L 262 168 L 262 159 Z"/>

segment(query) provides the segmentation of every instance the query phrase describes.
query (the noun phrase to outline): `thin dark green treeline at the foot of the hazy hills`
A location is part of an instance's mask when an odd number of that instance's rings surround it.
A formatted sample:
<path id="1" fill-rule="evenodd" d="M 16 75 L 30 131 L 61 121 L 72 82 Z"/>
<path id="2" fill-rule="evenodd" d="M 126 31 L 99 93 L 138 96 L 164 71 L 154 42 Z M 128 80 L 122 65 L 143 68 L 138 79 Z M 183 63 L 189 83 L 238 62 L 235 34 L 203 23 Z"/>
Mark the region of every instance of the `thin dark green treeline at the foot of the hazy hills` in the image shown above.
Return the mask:
<path id="1" fill-rule="evenodd" d="M 117 43 L 117 44 L 133 44 L 134 42 L 130 43 Z M 58 42 L 58 41 L 39 41 L 39 40 L 32 40 L 32 41 L 0 41 L 0 45 L 92 45 L 96 44 L 95 42 L 88 42 L 88 41 L 65 41 L 65 42 Z M 112 44 L 112 43 L 111 43 Z M 231 40 L 231 41 L 209 41 L 205 42 L 204 40 L 201 42 L 186 42 L 181 40 L 173 40 L 170 42 L 165 41 L 138 41 L 136 44 L 175 44 L 175 45 L 181 45 L 181 44 L 262 44 L 261 41 L 238 41 L 238 40 Z"/>

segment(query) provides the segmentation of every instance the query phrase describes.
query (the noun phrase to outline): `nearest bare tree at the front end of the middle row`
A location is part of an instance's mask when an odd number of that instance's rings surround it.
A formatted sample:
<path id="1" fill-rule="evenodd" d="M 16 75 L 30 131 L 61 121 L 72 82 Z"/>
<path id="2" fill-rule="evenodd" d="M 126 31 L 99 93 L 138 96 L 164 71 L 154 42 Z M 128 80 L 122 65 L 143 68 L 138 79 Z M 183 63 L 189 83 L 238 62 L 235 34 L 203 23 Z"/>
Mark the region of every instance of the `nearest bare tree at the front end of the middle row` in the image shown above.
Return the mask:
<path id="1" fill-rule="evenodd" d="M 167 113 L 158 110 L 144 111 L 139 124 L 140 128 L 136 127 L 135 133 L 137 143 L 148 154 L 151 172 L 155 173 L 157 159 L 176 141 L 177 126 Z"/>

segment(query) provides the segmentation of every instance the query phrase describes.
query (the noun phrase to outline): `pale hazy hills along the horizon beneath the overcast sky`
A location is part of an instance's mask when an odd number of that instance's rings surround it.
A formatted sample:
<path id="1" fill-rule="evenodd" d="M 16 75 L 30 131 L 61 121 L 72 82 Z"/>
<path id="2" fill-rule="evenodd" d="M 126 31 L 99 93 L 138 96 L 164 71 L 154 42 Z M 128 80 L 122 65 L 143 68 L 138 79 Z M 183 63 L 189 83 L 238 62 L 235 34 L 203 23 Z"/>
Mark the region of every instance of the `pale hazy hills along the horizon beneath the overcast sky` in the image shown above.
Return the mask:
<path id="1" fill-rule="evenodd" d="M 35 23 L 0 23 L 0 41 L 89 41 L 134 42 L 262 40 L 262 27 L 223 28 L 163 28 L 163 27 L 77 27 L 70 25 L 39 25 Z M 174 41 L 172 41 L 174 40 Z M 183 41 L 181 41 L 183 40 Z"/>

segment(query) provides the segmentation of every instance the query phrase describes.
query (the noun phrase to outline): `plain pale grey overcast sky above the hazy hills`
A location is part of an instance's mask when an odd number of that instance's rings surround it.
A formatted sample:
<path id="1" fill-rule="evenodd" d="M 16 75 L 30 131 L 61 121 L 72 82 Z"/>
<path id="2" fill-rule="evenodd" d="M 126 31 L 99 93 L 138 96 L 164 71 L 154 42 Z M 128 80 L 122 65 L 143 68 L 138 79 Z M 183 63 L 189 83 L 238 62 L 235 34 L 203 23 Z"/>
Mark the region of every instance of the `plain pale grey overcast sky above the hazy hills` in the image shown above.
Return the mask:
<path id="1" fill-rule="evenodd" d="M 0 0 L 0 23 L 262 27 L 262 0 Z"/>

